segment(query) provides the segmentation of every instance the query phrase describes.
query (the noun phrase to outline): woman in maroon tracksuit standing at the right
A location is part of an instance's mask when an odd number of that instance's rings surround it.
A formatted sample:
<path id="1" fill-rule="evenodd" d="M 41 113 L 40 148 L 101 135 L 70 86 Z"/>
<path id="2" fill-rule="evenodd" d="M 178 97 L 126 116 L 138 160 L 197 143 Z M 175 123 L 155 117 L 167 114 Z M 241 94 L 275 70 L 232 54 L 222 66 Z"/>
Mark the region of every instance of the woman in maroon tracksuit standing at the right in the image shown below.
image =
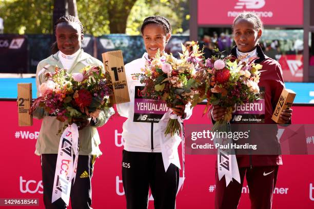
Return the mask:
<path id="1" fill-rule="evenodd" d="M 233 36 L 237 46 L 231 50 L 231 54 L 244 61 L 253 56 L 259 57 L 254 62 L 263 66 L 259 87 L 261 91 L 264 91 L 262 95 L 265 100 L 263 112 L 255 115 L 255 117 L 253 115 L 253 118 L 259 121 L 259 123 L 271 124 L 275 123 L 272 121 L 271 116 L 284 88 L 284 81 L 278 62 L 267 57 L 258 45 L 262 35 L 262 28 L 261 19 L 254 13 L 241 13 L 235 17 Z M 217 121 L 223 118 L 225 112 L 225 108 L 213 106 L 210 112 L 212 120 Z M 241 118 L 246 116 L 241 114 L 241 111 L 235 111 L 232 116 L 233 122 L 239 121 L 241 123 Z M 291 116 L 291 109 L 284 110 L 280 115 L 286 123 L 290 123 Z M 250 138 L 253 138 L 252 134 Z M 268 141 L 277 143 L 276 128 L 272 128 L 272 131 L 268 130 L 268 132 L 260 131 L 258 134 L 262 134 L 262 137 Z M 255 136 L 257 136 L 257 132 Z M 259 137 L 261 138 L 261 136 Z M 251 208 L 271 208 L 272 193 L 276 185 L 278 168 L 282 164 L 281 155 L 237 155 L 237 162 L 241 183 L 231 181 L 226 186 L 224 177 L 219 180 L 218 170 L 216 169 L 215 208 L 237 208 L 245 175 L 249 187 Z"/>

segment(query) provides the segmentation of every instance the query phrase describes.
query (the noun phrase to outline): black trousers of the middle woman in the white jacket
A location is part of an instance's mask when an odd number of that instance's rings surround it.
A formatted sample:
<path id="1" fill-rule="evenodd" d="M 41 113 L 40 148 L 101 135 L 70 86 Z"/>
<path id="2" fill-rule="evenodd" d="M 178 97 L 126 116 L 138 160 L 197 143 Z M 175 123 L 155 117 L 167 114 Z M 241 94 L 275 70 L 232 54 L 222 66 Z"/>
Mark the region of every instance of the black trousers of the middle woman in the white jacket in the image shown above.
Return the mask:
<path id="1" fill-rule="evenodd" d="M 179 168 L 170 164 L 167 172 L 161 153 L 123 151 L 122 180 L 127 209 L 148 206 L 149 187 L 155 209 L 175 208 L 179 186 Z"/>

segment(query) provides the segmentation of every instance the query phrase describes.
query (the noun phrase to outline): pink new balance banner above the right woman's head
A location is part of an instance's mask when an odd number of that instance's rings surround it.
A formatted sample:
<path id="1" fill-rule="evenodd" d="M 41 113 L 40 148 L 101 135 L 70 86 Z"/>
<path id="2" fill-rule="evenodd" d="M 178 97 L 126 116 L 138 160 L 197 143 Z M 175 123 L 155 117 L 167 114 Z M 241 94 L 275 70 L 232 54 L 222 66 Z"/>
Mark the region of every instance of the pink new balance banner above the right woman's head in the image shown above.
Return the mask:
<path id="1" fill-rule="evenodd" d="M 303 0 L 198 0 L 198 25 L 231 25 L 244 11 L 256 12 L 264 25 L 303 25 Z"/>

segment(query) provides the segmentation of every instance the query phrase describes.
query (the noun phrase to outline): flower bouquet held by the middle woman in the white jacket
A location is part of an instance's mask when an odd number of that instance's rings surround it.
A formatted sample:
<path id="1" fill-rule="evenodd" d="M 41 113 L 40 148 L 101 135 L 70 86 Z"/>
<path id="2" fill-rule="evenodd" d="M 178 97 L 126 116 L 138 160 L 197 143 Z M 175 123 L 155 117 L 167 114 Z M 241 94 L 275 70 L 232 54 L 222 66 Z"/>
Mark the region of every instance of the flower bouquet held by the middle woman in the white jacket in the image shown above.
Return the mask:
<path id="1" fill-rule="evenodd" d="M 198 52 L 198 46 L 194 45 L 192 52 L 182 45 L 181 59 L 176 59 L 172 54 L 161 54 L 158 50 L 155 57 L 147 60 L 143 73 L 134 74 L 145 83 L 144 92 L 153 99 L 162 99 L 167 107 L 175 108 L 177 105 L 186 105 L 192 101 L 198 84 L 195 82 L 195 69 L 198 58 L 202 54 Z M 179 134 L 181 126 L 178 116 L 170 115 L 165 135 Z"/>

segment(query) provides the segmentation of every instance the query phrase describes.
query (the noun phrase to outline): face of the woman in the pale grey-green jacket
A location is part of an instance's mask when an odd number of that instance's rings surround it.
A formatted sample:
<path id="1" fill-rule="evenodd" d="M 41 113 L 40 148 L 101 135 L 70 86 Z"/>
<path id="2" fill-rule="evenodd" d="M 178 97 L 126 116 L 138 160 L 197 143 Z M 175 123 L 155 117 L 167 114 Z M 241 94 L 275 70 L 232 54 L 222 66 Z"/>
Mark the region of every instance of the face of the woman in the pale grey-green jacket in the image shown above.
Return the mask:
<path id="1" fill-rule="evenodd" d="M 56 26 L 55 36 L 58 49 L 66 54 L 71 55 L 81 49 L 83 34 L 78 23 L 63 22 Z"/>

